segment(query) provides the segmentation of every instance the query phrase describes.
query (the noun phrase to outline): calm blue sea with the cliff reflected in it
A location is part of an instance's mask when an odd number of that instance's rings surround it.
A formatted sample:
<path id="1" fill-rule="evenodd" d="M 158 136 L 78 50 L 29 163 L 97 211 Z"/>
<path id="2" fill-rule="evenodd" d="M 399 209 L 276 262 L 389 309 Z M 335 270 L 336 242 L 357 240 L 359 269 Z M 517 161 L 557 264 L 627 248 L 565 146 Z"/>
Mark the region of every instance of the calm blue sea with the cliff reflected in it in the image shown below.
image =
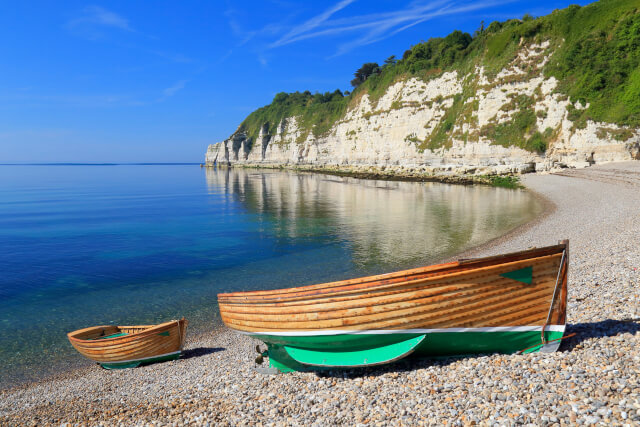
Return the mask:
<path id="1" fill-rule="evenodd" d="M 0 388 L 88 364 L 66 332 L 216 294 L 432 263 L 532 219 L 528 193 L 191 165 L 0 166 Z"/>

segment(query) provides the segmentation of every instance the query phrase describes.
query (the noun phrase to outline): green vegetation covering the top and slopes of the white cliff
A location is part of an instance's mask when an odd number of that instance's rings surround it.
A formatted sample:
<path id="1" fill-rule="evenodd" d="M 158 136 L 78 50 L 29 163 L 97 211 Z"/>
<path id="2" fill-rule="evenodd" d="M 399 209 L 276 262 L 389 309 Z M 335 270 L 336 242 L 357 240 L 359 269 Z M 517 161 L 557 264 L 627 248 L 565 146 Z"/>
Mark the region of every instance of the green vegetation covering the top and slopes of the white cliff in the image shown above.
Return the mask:
<path id="1" fill-rule="evenodd" d="M 399 61 L 389 58 L 381 67 L 365 64 L 356 72 L 352 81 L 356 87 L 348 96 L 339 90 L 325 94 L 279 93 L 271 104 L 251 113 L 240 131 L 253 142 L 263 126 L 267 134 L 274 134 L 283 119 L 296 116 L 301 130 L 298 142 L 310 132 L 316 137 L 326 135 L 365 93 L 375 102 L 397 81 L 410 77 L 428 80 L 452 70 L 463 76 L 473 73 L 475 66 L 484 66 L 492 80 L 516 60 L 523 46 L 543 41 L 550 42 L 552 52 L 543 74 L 557 78 L 557 91 L 571 102 L 588 105 L 586 109 L 571 109 L 570 118 L 577 127 L 587 120 L 640 126 L 640 0 L 600 0 L 585 7 L 555 10 L 540 18 L 525 15 L 493 22 L 487 28 L 481 25 L 473 36 L 454 31 L 444 38 L 432 38 L 411 47 Z M 540 72 L 531 66 L 525 71 L 527 78 Z M 474 95 L 475 87 L 464 89 L 434 134 L 427 141 L 416 142 L 418 148 L 450 144 L 455 124 L 470 116 L 463 106 Z M 536 113 L 530 103 L 519 100 L 516 107 L 510 122 L 485 127 L 482 135 L 496 144 L 544 151 L 553 130 L 534 130 Z"/>

